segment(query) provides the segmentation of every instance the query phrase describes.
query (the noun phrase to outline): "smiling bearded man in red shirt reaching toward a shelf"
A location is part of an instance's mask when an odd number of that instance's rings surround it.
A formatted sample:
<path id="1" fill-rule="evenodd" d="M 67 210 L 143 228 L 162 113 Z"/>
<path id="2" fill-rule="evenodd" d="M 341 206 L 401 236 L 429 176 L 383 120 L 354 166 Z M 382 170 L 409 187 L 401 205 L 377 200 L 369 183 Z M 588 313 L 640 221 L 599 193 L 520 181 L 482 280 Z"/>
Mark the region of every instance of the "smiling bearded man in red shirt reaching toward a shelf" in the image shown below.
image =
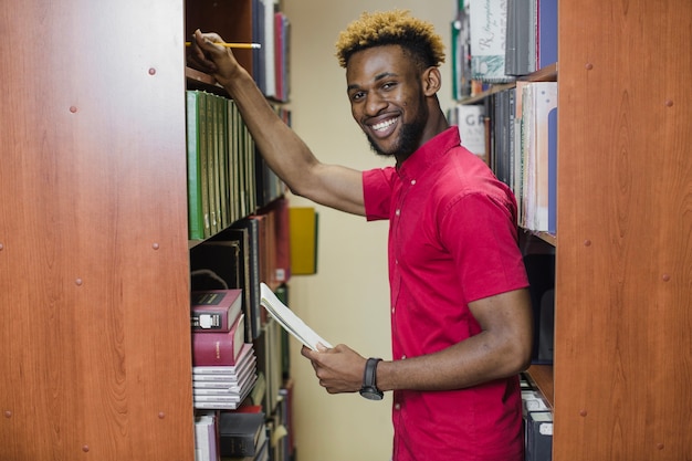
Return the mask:
<path id="1" fill-rule="evenodd" d="M 259 150 L 291 190 L 368 220 L 389 219 L 392 362 L 345 345 L 302 354 L 328 392 L 394 390 L 394 460 L 523 459 L 517 373 L 531 302 L 508 188 L 460 146 L 437 93 L 443 45 L 408 12 L 363 14 L 344 31 L 352 114 L 396 167 L 319 163 L 272 112 L 216 34 L 193 56 L 235 99 Z"/>

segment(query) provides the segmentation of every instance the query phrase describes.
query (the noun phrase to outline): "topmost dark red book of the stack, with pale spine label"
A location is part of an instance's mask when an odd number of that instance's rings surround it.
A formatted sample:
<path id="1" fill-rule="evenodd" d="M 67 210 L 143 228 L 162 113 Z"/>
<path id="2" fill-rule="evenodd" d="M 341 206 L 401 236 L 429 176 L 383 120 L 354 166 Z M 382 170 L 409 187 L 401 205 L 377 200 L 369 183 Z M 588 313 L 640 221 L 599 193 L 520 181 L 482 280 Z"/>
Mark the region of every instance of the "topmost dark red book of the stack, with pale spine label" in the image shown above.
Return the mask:
<path id="1" fill-rule="evenodd" d="M 242 290 L 192 292 L 190 323 L 193 332 L 228 332 L 242 312 Z"/>

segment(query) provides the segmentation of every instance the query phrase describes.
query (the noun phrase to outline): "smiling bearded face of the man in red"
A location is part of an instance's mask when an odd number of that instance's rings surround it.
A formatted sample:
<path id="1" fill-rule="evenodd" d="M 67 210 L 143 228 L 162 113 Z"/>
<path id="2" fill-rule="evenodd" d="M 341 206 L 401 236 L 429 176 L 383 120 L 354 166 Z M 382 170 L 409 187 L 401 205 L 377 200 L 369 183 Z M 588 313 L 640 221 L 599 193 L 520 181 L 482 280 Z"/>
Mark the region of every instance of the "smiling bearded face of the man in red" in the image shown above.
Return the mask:
<path id="1" fill-rule="evenodd" d="M 401 46 L 359 51 L 346 67 L 354 119 L 373 149 L 399 163 L 422 144 L 428 118 L 421 73 Z"/>

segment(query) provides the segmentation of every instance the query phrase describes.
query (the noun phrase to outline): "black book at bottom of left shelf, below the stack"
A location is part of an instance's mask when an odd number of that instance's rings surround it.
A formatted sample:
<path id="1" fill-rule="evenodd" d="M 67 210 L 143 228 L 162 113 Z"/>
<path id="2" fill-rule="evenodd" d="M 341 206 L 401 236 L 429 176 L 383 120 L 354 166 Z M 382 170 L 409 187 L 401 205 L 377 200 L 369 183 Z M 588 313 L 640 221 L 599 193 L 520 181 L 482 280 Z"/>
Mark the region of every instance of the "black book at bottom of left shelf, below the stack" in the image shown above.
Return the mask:
<path id="1" fill-rule="evenodd" d="M 219 450 L 222 457 L 252 457 L 265 440 L 264 412 L 221 412 Z"/>

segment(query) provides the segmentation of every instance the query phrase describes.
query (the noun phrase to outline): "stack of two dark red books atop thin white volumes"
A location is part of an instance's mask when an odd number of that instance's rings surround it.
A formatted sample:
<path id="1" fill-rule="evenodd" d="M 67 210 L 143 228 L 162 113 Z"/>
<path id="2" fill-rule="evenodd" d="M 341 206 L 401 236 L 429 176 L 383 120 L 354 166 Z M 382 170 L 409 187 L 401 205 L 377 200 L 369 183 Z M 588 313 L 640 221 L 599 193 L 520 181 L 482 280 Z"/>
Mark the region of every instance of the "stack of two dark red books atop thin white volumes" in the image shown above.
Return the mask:
<path id="1" fill-rule="evenodd" d="M 237 409 L 256 381 L 256 356 L 244 342 L 242 290 L 192 293 L 192 391 L 197 409 Z"/>

